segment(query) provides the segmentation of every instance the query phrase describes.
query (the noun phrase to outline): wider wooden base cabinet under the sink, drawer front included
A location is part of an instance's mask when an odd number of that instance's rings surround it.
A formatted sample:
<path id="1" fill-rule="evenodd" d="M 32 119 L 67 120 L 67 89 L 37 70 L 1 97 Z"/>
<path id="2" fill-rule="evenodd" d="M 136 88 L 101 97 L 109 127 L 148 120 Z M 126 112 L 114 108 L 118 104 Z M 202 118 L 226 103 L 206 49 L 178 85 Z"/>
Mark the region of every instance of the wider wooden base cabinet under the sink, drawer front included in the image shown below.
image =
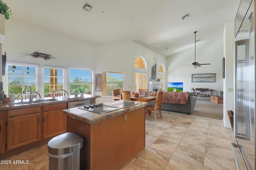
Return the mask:
<path id="1" fill-rule="evenodd" d="M 9 110 L 7 113 L 7 150 L 42 139 L 41 107 Z"/>

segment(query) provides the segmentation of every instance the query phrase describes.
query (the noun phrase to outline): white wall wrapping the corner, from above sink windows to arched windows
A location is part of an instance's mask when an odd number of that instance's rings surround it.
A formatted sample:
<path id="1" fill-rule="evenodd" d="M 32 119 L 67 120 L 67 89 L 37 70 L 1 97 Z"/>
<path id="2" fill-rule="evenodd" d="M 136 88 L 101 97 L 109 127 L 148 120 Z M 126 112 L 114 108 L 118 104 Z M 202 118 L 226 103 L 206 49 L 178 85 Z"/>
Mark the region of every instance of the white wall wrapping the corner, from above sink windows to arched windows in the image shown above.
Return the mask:
<path id="1" fill-rule="evenodd" d="M 6 52 L 7 61 L 35 63 L 40 64 L 41 67 L 50 65 L 62 66 L 67 69 L 70 67 L 86 68 L 93 70 L 94 76 L 102 74 L 102 70 L 124 70 L 125 90 L 132 91 L 134 89 L 133 70 L 136 57 L 144 57 L 148 64 L 150 57 L 153 56 L 158 63 L 166 65 L 165 57 L 134 41 L 92 45 L 12 18 L 6 21 L 5 29 L 6 36 L 2 52 Z M 52 55 L 56 59 L 45 61 L 42 58 L 31 56 L 22 57 L 24 54 L 35 51 Z M 66 77 L 69 78 L 68 75 Z M 7 75 L 3 77 L 3 80 L 4 88 L 7 88 Z M 7 89 L 4 90 L 7 91 Z M 95 92 L 95 87 L 93 90 L 94 95 L 102 96 L 102 92 Z M 112 101 L 112 98 L 96 100 L 96 102 L 107 101 Z"/>

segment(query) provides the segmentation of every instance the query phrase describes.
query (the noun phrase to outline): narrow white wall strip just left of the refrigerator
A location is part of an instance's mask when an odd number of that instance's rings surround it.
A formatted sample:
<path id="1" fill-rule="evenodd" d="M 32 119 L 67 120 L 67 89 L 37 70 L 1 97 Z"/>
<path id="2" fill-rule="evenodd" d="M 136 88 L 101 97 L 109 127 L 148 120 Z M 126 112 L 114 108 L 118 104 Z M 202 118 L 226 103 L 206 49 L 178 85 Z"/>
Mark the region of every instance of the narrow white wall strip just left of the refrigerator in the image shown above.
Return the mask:
<path id="1" fill-rule="evenodd" d="M 225 78 L 223 79 L 223 123 L 230 127 L 227 110 L 233 110 L 234 93 L 228 92 L 227 88 L 234 88 L 234 27 L 235 23 L 226 23 L 224 27 L 224 57 L 225 57 Z"/>

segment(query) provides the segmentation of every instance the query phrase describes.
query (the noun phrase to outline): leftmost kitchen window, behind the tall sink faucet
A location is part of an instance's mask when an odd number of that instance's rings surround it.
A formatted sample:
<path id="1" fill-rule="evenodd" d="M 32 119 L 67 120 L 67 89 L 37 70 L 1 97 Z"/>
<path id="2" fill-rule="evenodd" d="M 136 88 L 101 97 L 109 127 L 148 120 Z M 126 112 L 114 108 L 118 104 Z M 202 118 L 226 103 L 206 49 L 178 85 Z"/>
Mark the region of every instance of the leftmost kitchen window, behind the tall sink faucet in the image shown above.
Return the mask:
<path id="1" fill-rule="evenodd" d="M 18 96 L 23 90 L 26 84 L 32 86 L 32 90 L 36 91 L 36 70 L 38 69 L 37 64 L 25 64 L 25 63 L 12 63 L 8 64 L 8 92 L 11 90 Z"/>

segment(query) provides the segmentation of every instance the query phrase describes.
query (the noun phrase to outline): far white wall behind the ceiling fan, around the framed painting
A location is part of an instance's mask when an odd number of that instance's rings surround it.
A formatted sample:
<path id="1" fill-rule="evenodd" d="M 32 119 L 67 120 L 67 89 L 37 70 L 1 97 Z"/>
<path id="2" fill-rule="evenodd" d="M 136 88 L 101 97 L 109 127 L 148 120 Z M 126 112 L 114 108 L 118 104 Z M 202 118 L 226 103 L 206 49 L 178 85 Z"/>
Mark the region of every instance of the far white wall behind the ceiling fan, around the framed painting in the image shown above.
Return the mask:
<path id="1" fill-rule="evenodd" d="M 183 91 L 191 92 L 192 88 L 209 88 L 217 92 L 223 91 L 222 80 L 223 35 L 214 39 L 196 43 L 196 62 L 210 63 L 194 68 L 183 66 L 194 62 L 194 47 L 166 58 L 167 81 L 183 82 Z M 192 74 L 216 73 L 216 82 L 192 82 Z"/>

